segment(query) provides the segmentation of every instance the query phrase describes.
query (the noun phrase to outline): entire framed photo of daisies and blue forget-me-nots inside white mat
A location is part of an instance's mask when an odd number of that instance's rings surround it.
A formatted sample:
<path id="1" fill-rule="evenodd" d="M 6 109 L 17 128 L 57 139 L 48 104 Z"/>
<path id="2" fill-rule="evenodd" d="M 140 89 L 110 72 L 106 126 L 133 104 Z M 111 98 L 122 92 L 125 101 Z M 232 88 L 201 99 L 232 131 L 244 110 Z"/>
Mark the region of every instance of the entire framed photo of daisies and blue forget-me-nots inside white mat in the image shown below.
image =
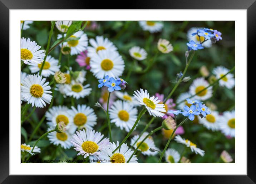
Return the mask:
<path id="1" fill-rule="evenodd" d="M 234 21 L 20 24 L 22 163 L 234 162 Z"/>

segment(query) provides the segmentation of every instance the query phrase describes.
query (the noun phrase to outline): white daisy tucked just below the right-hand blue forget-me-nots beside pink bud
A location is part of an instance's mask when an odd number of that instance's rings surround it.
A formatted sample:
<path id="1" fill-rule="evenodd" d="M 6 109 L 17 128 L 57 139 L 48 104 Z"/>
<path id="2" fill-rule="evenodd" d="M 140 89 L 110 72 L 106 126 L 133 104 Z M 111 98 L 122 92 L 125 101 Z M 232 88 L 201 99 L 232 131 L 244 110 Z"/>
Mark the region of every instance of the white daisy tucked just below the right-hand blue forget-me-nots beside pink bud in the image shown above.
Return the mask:
<path id="1" fill-rule="evenodd" d="M 219 130 L 219 113 L 217 111 L 211 111 L 211 114 L 207 114 L 204 118 L 198 118 L 199 123 L 203 124 L 204 127 L 206 127 L 209 130 L 217 131 Z"/>

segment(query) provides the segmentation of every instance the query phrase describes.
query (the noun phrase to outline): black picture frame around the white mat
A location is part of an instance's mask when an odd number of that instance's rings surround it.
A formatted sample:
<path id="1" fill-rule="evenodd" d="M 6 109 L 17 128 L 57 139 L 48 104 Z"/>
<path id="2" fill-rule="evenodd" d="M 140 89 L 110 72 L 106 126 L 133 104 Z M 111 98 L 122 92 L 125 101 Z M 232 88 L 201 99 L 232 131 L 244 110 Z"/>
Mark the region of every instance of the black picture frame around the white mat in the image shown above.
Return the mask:
<path id="1" fill-rule="evenodd" d="M 114 7 L 114 4 L 121 7 Z M 84 0 L 0 0 L 0 21 L 1 21 L 1 52 L 8 53 L 9 49 L 9 10 L 10 9 L 244 9 L 247 10 L 247 60 L 255 62 L 256 43 L 256 2 L 255 0 L 158 0 L 158 1 L 84 1 Z M 238 44 L 238 43 L 236 43 Z M 6 61 L 9 58 L 6 58 Z M 13 62 L 13 61 L 9 61 Z M 243 62 L 243 61 L 240 61 Z M 6 67 L 9 68 L 7 65 Z M 9 68 L 10 69 L 10 68 Z M 254 67 L 248 68 L 253 70 Z M 253 74 L 253 71 L 248 71 Z M 253 78 L 248 75 L 248 84 L 254 84 Z M 254 86 L 254 85 L 253 85 Z M 254 91 L 248 91 L 248 97 L 252 97 Z M 10 96 L 9 96 L 10 98 Z M 248 108 L 248 107 L 245 107 Z M 252 112 L 249 110 L 248 114 Z M 246 123 L 245 121 L 242 123 Z M 5 130 L 9 130 L 7 123 L 2 123 Z M 247 175 L 209 175 L 209 176 L 173 176 L 175 179 L 188 180 L 190 183 L 255 183 L 256 182 L 256 159 L 255 159 L 255 121 L 248 121 L 247 124 Z M 1 126 L 2 126 L 1 125 Z M 14 176 L 9 175 L 9 131 L 1 131 L 0 138 L 0 182 L 2 183 L 46 183 L 53 176 Z M 64 176 L 63 176 L 64 177 Z M 62 180 L 64 179 L 63 177 Z M 70 176 L 69 176 L 70 177 Z M 83 177 L 83 176 L 81 176 Z M 55 178 L 56 179 L 56 178 Z M 77 178 L 78 179 L 78 178 Z M 79 180 L 79 179 L 78 179 Z M 173 180 L 173 179 L 172 179 Z"/>

